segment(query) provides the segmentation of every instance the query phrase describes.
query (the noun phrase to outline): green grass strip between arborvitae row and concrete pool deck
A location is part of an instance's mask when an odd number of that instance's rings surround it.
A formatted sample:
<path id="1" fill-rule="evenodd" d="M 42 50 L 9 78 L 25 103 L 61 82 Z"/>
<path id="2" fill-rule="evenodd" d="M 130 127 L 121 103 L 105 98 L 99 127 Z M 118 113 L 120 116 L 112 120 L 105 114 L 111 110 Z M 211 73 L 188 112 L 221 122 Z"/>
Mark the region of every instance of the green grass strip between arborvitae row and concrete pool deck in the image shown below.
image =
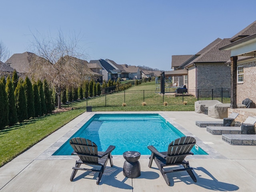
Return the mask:
<path id="1" fill-rule="evenodd" d="M 85 109 L 49 114 L 0 130 L 0 167 L 83 112 Z"/>

